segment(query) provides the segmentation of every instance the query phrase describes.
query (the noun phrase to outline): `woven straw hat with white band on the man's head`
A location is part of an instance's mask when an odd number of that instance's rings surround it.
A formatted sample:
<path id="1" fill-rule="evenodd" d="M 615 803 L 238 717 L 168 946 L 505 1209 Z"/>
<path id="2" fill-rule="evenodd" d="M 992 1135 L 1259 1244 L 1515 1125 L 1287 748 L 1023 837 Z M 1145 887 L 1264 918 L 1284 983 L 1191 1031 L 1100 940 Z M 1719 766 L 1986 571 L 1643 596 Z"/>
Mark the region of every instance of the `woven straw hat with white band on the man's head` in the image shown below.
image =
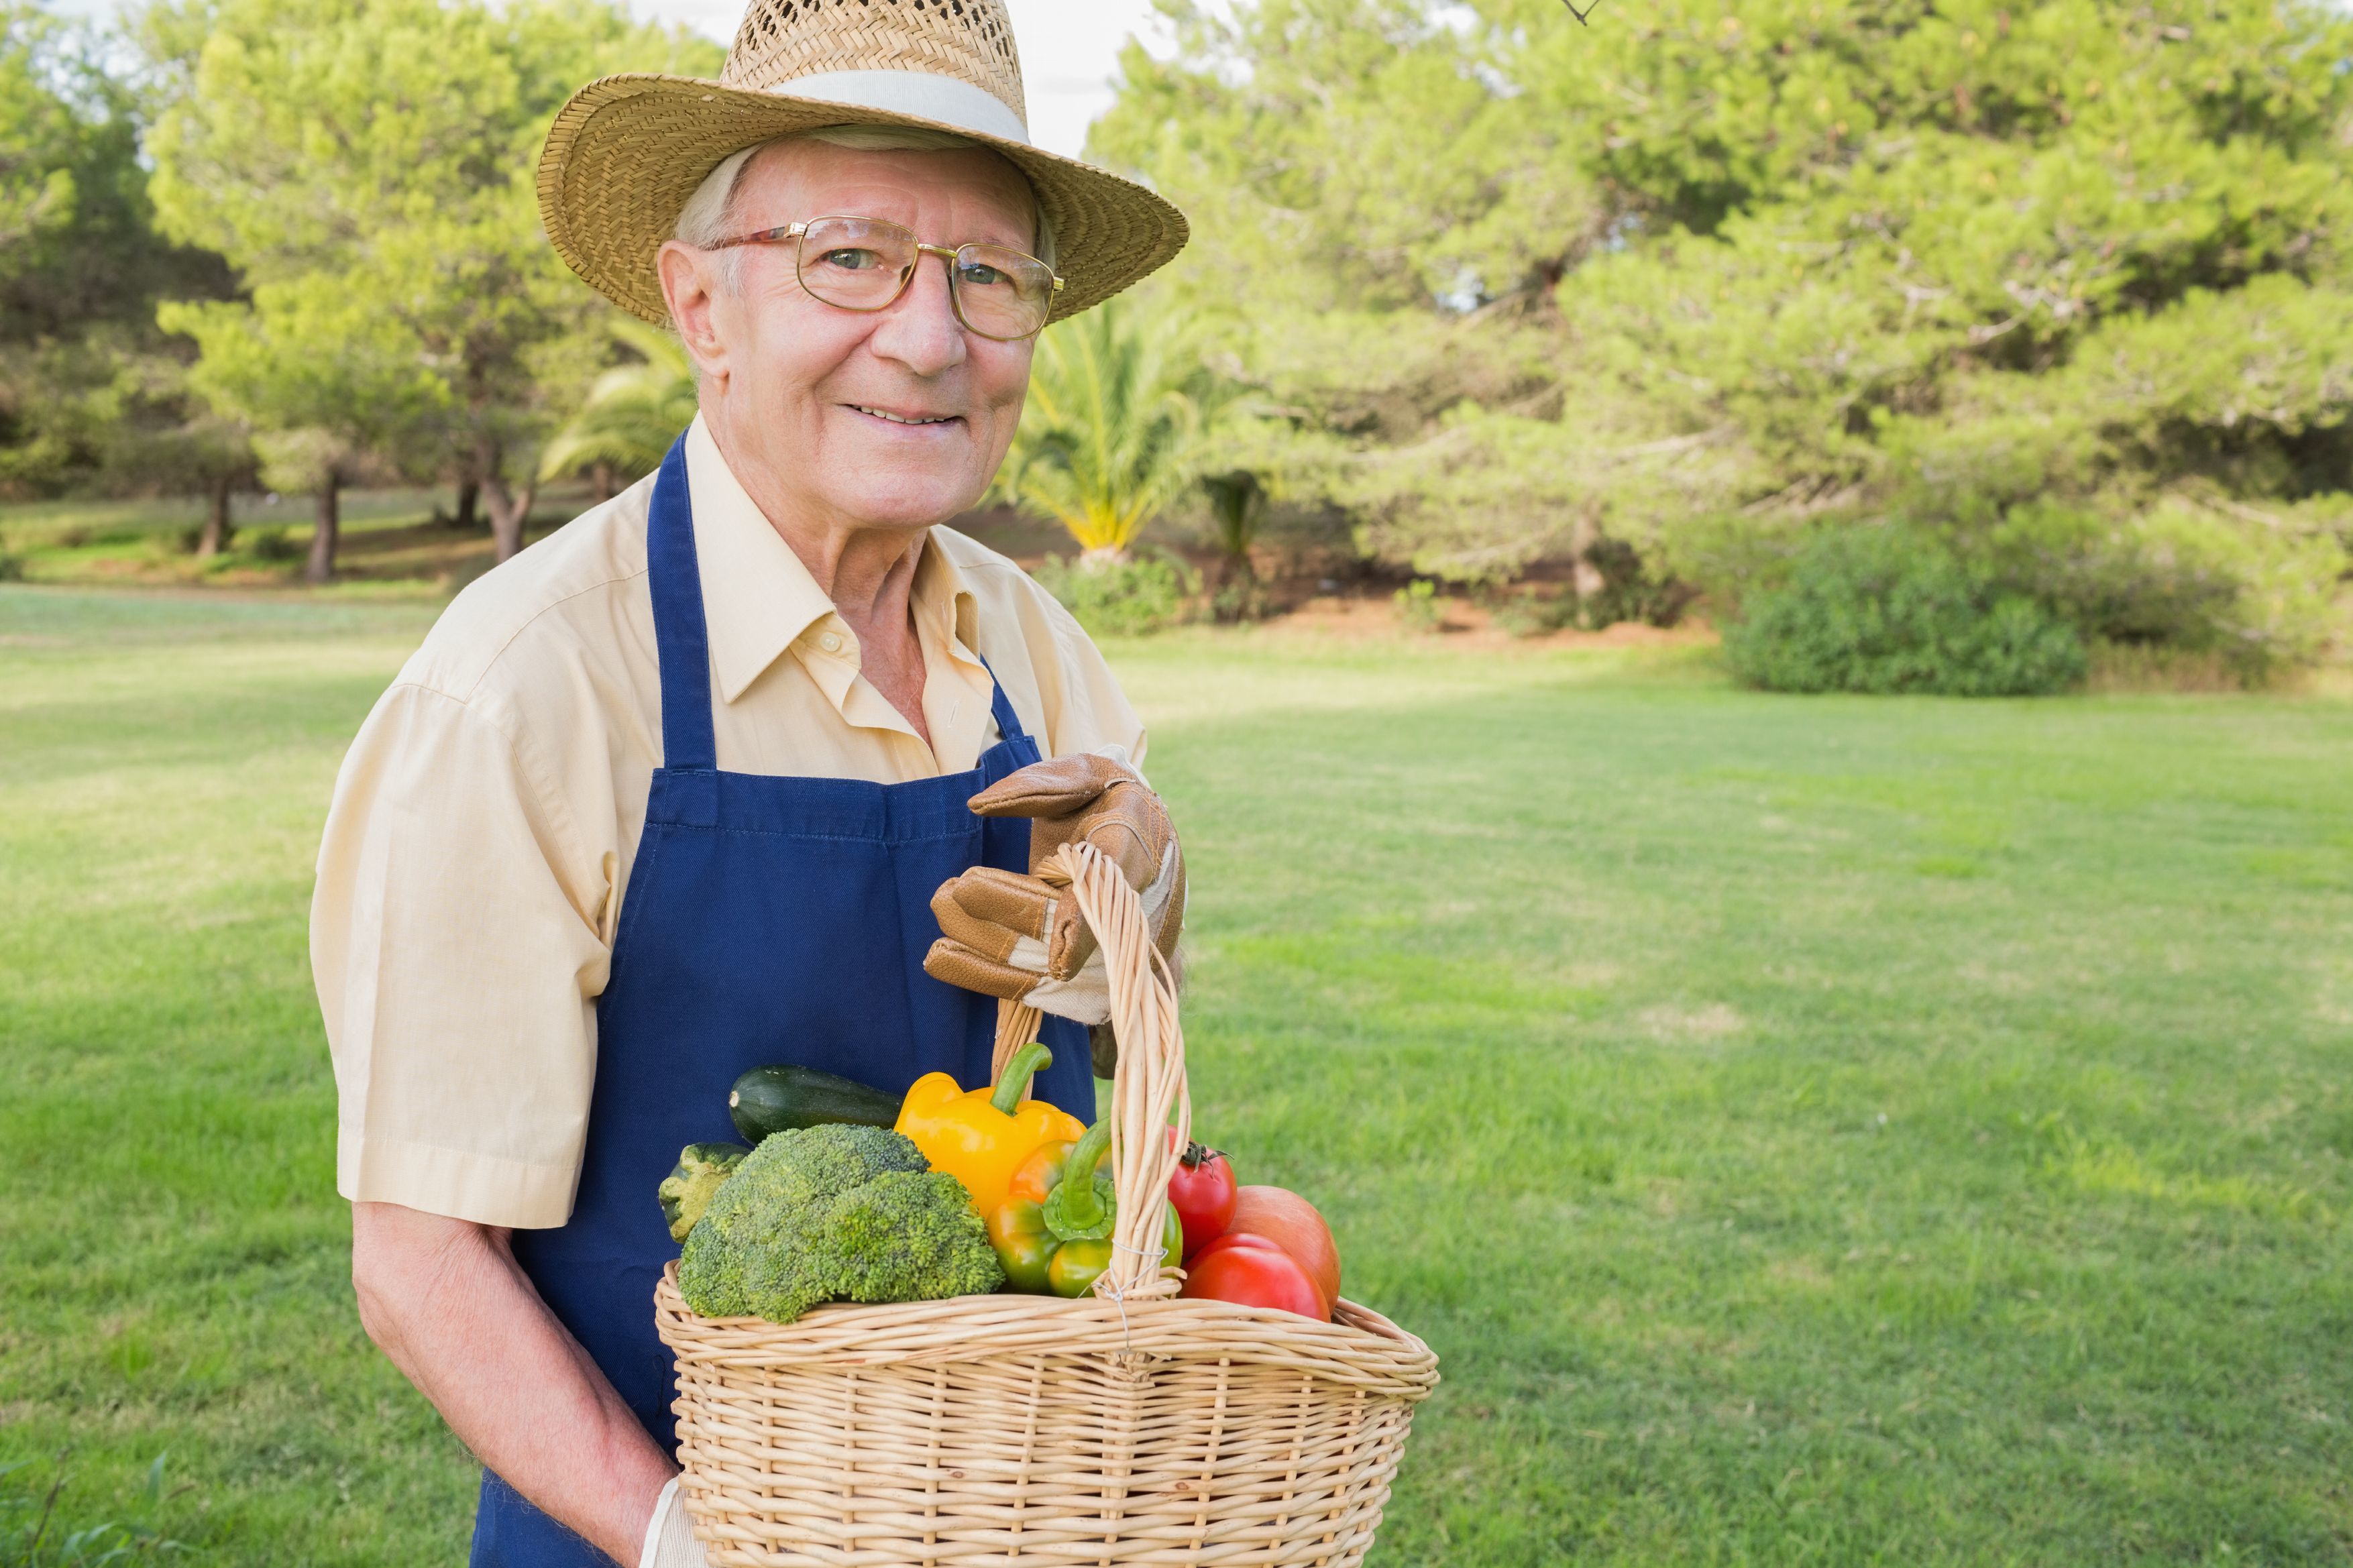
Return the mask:
<path id="1" fill-rule="evenodd" d="M 704 177 L 746 146 L 826 125 L 946 129 L 1012 160 L 1054 226 L 1068 280 L 1056 320 L 1184 250 L 1176 207 L 1031 146 L 1005 0 L 751 0 L 720 80 L 628 73 L 572 94 L 539 155 L 539 217 L 572 271 L 666 323 L 654 252 Z"/>

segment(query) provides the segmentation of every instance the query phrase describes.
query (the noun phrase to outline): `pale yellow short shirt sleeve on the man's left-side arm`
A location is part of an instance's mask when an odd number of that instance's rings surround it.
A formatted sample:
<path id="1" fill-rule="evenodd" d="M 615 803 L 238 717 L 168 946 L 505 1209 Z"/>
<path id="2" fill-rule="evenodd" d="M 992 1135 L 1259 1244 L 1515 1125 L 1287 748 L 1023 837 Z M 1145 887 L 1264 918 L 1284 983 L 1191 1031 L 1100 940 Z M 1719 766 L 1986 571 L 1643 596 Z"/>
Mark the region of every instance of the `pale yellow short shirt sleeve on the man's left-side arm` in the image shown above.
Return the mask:
<path id="1" fill-rule="evenodd" d="M 572 1215 L 609 857 L 487 713 L 402 683 L 344 758 L 311 902 L 336 1191 L 480 1224 Z"/>

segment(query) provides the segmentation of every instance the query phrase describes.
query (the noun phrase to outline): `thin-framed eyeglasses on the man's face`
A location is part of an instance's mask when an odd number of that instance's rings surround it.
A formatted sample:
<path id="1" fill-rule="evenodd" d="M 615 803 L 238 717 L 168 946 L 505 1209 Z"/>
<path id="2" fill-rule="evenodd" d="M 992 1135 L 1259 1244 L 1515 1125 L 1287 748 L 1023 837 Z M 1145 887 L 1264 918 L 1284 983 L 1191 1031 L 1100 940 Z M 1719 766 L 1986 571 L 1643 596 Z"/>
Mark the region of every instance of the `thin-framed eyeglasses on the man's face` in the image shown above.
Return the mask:
<path id="1" fill-rule="evenodd" d="M 1061 292 L 1061 278 L 1038 257 L 1007 245 L 925 245 L 885 219 L 809 219 L 720 240 L 711 250 L 734 245 L 793 245 L 800 287 L 842 311 L 887 311 L 906 294 L 922 259 L 939 257 L 948 264 L 955 320 L 1000 344 L 1038 337 Z"/>

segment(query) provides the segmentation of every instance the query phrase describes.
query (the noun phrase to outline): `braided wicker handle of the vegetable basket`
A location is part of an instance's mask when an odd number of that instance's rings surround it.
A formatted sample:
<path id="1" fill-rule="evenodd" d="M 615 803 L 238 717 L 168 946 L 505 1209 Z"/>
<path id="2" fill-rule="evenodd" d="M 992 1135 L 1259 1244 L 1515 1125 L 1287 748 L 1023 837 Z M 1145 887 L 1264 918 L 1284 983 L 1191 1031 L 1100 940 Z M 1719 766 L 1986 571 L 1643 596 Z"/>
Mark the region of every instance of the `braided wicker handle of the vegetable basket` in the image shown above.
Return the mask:
<path id="1" fill-rule="evenodd" d="M 1144 925 L 1144 902 L 1101 850 L 1066 843 L 1045 869 L 1054 873 L 1049 881 L 1068 878 L 1078 916 L 1104 949 L 1111 1029 L 1120 1038 L 1120 1067 L 1111 1078 L 1111 1184 L 1120 1217 L 1111 1234 L 1111 1267 L 1094 1281 L 1094 1293 L 1120 1302 L 1176 1295 L 1176 1260 L 1160 1257 L 1162 1203 L 1176 1156 L 1193 1135 L 1176 977 Z M 1035 1015 L 1033 1008 L 1016 1012 Z M 1019 1022 L 998 1012 L 998 1050 Z M 1028 1031 L 1035 1038 L 1038 1024 L 1031 1022 Z M 1176 1128 L 1174 1144 L 1169 1125 Z"/>

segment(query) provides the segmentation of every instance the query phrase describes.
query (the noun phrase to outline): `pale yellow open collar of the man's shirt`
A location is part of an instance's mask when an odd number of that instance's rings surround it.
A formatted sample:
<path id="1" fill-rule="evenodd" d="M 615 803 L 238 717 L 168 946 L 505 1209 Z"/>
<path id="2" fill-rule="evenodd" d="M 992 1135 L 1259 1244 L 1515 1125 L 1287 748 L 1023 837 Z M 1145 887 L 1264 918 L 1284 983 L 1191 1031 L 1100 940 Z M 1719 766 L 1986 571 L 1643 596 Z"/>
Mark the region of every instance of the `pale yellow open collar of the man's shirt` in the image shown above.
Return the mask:
<path id="1" fill-rule="evenodd" d="M 819 655 L 821 640 L 835 636 L 840 640 L 821 650 L 828 657 L 805 662 L 833 704 L 845 706 L 847 690 L 835 687 L 847 687 L 854 678 L 856 638 L 835 617 L 833 600 L 809 577 L 809 567 L 736 480 L 701 414 L 687 426 L 687 492 L 694 497 L 696 574 L 704 584 L 704 622 L 720 699 L 741 697 L 795 643 L 807 640 L 807 652 Z M 925 537 L 908 593 L 918 622 L 955 659 L 979 666 L 979 655 L 972 652 L 979 624 L 972 589 L 932 537 Z"/>

